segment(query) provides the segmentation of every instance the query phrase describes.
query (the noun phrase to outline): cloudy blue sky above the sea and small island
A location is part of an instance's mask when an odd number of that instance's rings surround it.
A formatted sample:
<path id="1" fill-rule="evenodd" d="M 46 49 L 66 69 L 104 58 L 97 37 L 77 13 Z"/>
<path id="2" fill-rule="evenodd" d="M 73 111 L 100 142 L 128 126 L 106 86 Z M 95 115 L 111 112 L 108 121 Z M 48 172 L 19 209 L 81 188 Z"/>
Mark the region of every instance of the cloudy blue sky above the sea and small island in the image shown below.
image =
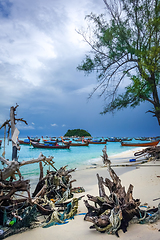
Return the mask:
<path id="1" fill-rule="evenodd" d="M 28 122 L 17 124 L 19 137 L 75 128 L 95 137 L 160 135 L 147 103 L 100 115 L 103 98 L 88 100 L 97 80 L 76 69 L 90 50 L 77 30 L 104 8 L 103 0 L 0 0 L 0 125 L 17 103 L 17 118 Z"/>

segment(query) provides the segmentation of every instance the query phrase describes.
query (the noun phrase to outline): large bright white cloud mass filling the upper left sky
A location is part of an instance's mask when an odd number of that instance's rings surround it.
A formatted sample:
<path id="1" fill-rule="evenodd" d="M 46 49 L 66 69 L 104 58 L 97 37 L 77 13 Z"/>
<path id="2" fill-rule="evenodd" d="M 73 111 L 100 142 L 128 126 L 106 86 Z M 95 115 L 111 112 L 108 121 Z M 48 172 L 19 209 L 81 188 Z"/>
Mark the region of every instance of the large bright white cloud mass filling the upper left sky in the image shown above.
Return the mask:
<path id="1" fill-rule="evenodd" d="M 76 87 L 76 59 L 87 44 L 75 29 L 94 4 L 100 8 L 94 0 L 13 1 L 9 17 L 0 17 L 0 105 L 19 103 L 26 94 L 38 101 L 38 89 L 63 99 L 67 83 Z"/>

